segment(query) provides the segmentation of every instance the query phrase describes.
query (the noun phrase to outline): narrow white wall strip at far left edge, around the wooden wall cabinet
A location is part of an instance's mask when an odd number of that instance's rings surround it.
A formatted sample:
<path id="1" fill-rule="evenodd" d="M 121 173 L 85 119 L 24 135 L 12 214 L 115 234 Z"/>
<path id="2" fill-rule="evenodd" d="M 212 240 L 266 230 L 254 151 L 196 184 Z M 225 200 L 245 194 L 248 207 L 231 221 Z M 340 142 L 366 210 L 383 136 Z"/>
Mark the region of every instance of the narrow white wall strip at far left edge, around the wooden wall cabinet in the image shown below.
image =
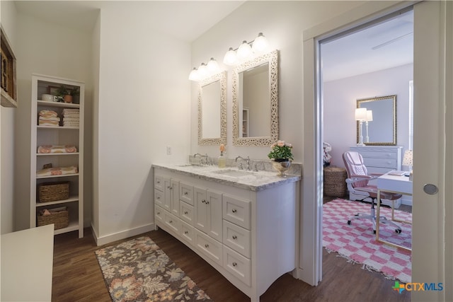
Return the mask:
<path id="1" fill-rule="evenodd" d="M 16 53 L 17 49 L 17 33 L 16 33 L 16 6 L 10 1 L 1 1 L 1 26 L 4 28 L 10 46 L 16 55 L 16 59 L 20 59 Z M 0 176 L 0 233 L 11 233 L 14 231 L 14 121 L 16 108 L 0 109 L 0 129 L 1 129 L 1 176 Z"/>

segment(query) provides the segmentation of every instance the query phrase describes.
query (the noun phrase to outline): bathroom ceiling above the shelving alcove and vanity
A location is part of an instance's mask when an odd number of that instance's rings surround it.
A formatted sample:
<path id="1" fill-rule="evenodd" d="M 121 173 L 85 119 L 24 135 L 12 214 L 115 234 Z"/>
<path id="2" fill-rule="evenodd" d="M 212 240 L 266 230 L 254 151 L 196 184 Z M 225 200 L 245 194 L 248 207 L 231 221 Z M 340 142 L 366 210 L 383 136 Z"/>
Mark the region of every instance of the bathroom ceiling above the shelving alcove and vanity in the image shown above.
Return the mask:
<path id="1" fill-rule="evenodd" d="M 15 1 L 18 13 L 57 25 L 91 32 L 101 8 L 127 1 Z M 129 1 L 147 11 L 151 26 L 173 37 L 192 42 L 245 1 Z"/>

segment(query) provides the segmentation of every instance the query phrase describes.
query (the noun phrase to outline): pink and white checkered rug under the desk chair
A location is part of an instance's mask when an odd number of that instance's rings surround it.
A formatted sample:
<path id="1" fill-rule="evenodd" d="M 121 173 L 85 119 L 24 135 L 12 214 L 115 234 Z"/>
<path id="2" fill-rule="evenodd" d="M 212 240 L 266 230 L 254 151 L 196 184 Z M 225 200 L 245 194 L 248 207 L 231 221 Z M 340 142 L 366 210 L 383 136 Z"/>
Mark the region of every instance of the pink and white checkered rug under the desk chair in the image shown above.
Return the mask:
<path id="1" fill-rule="evenodd" d="M 350 262 L 362 264 L 362 268 L 382 272 L 389 279 L 411 282 L 411 252 L 377 242 L 372 223 L 367 219 L 348 220 L 357 213 L 369 214 L 371 204 L 335 199 L 323 205 L 323 247 L 338 252 Z M 391 219 L 391 209 L 381 207 L 381 216 Z M 412 214 L 395 210 L 398 219 L 412 221 Z M 411 225 L 397 222 L 401 233 L 393 226 L 381 223 L 379 238 L 411 247 Z"/>

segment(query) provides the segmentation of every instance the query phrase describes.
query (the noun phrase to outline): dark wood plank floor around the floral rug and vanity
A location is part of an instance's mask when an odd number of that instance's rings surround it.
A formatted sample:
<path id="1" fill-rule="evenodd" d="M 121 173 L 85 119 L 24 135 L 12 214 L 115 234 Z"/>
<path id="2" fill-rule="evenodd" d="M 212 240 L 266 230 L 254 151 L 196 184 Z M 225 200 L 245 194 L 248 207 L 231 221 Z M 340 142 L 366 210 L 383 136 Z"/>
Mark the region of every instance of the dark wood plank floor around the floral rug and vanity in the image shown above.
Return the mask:
<path id="1" fill-rule="evenodd" d="M 149 236 L 184 270 L 214 301 L 250 301 L 219 272 L 190 248 L 165 231 L 152 231 Z M 136 236 L 138 237 L 138 236 Z M 109 245 L 114 245 L 120 240 Z M 55 236 L 52 301 L 110 301 L 94 251 L 91 231 L 84 238 L 76 232 Z M 398 294 L 394 281 L 378 272 L 368 272 L 361 265 L 352 265 L 335 252 L 323 250 L 323 281 L 310 286 L 285 274 L 260 297 L 261 301 L 411 301 L 411 294 Z"/>

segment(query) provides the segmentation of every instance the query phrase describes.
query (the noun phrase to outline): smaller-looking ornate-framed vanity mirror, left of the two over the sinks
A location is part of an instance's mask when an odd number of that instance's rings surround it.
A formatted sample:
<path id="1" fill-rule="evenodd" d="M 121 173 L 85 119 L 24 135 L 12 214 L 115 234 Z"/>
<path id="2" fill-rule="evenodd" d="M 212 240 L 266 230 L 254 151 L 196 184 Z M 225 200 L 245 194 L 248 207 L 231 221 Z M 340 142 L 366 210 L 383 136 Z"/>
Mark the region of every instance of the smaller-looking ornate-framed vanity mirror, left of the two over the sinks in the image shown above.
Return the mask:
<path id="1" fill-rule="evenodd" d="M 198 87 L 198 144 L 226 144 L 226 71 Z"/>

